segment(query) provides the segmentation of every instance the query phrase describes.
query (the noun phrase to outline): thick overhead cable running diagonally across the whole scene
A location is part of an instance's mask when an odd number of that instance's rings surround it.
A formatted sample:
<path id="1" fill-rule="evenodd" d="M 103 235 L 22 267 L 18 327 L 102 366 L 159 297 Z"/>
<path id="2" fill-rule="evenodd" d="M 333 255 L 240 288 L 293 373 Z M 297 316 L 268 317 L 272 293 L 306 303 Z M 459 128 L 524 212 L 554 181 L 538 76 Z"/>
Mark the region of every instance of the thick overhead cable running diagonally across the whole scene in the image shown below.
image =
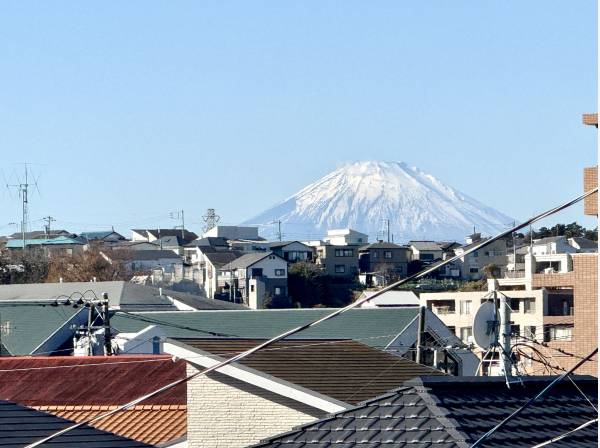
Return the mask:
<path id="1" fill-rule="evenodd" d="M 521 224 L 519 224 L 517 226 L 514 226 L 514 227 L 512 227 L 512 228 L 510 228 L 508 230 L 505 230 L 505 231 L 497 234 L 494 237 L 491 237 L 491 238 L 489 238 L 487 240 L 481 241 L 480 243 L 473 245 L 471 248 L 467 249 L 464 253 L 462 253 L 460 255 L 455 255 L 453 257 L 450 257 L 447 260 L 443 260 L 439 264 L 436 264 L 434 266 L 428 267 L 428 268 L 422 270 L 421 272 L 418 272 L 418 273 L 410 275 L 410 276 L 408 276 L 408 277 L 406 277 L 406 278 L 404 278 L 402 280 L 394 282 L 391 285 L 380 289 L 379 291 L 375 292 L 374 294 L 372 294 L 369 297 L 363 297 L 361 299 L 358 299 L 355 302 L 353 302 L 353 303 L 351 303 L 351 304 L 349 304 L 349 305 L 347 305 L 347 306 L 345 306 L 343 308 L 339 308 L 339 309 L 337 309 L 337 310 L 335 310 L 335 311 L 333 311 L 333 312 L 331 312 L 331 313 L 329 313 L 329 314 L 327 314 L 327 315 L 325 315 L 325 316 L 323 316 L 323 317 L 321 317 L 321 318 L 319 318 L 317 320 L 314 320 L 314 321 L 312 321 L 310 323 L 301 325 L 301 326 L 296 327 L 296 328 L 292 328 L 292 329 L 290 329 L 290 330 L 288 330 L 286 332 L 281 333 L 278 336 L 275 336 L 275 337 L 269 339 L 266 342 L 263 342 L 263 343 L 257 345 L 256 347 L 253 347 L 253 348 L 251 348 L 249 350 L 246 350 L 245 352 L 243 352 L 243 353 L 241 353 L 239 355 L 232 356 L 231 358 L 228 358 L 228 359 L 226 359 L 226 360 L 224 360 L 222 362 L 216 363 L 216 364 L 214 364 L 213 366 L 211 366 L 209 368 L 206 368 L 206 369 L 198 371 L 198 372 L 196 372 L 196 373 L 194 373 L 192 375 L 189 375 L 186 378 L 183 378 L 183 379 L 174 381 L 174 382 L 172 382 L 170 384 L 167 384 L 167 385 L 165 385 L 165 386 L 163 386 L 163 387 L 161 387 L 161 388 L 159 388 L 159 389 L 157 389 L 157 390 L 155 390 L 155 391 L 153 391 L 153 392 L 151 392 L 149 394 L 146 394 L 144 396 L 138 397 L 137 399 L 132 400 L 129 403 L 121 405 L 118 408 L 115 408 L 114 410 L 105 412 L 105 413 L 100 414 L 98 416 L 95 416 L 95 417 L 92 417 L 92 418 L 89 418 L 89 419 L 86 419 L 86 420 L 82 420 L 79 423 L 75 423 L 75 424 L 73 424 L 71 426 L 68 426 L 68 427 L 66 427 L 66 428 L 64 428 L 64 429 L 62 429 L 60 431 L 57 431 L 57 432 L 55 432 L 53 434 L 50 434 L 49 436 L 46 436 L 46 437 L 44 437 L 44 438 L 42 438 L 42 439 L 40 439 L 40 440 L 38 440 L 38 441 L 36 441 L 34 443 L 31 443 L 31 444 L 27 445 L 26 448 L 35 448 L 37 446 L 40 446 L 43 443 L 46 443 L 46 442 L 48 442 L 50 440 L 53 440 L 54 438 L 56 438 L 56 437 L 58 437 L 58 436 L 60 436 L 62 434 L 65 434 L 65 433 L 67 433 L 69 431 L 72 431 L 73 429 L 76 429 L 76 428 L 79 428 L 79 427 L 81 427 L 81 426 L 83 426 L 85 424 L 93 423 L 94 421 L 106 418 L 106 417 L 108 417 L 110 415 L 113 415 L 113 414 L 115 414 L 115 413 L 117 413 L 117 412 L 119 412 L 119 411 L 121 411 L 123 409 L 127 409 L 127 408 L 129 408 L 131 406 L 135 406 L 136 404 L 138 404 L 138 403 L 140 403 L 140 402 L 142 402 L 142 401 L 144 401 L 144 400 L 146 400 L 148 398 L 151 398 L 151 397 L 153 397 L 155 395 L 158 395 L 158 394 L 162 393 L 163 391 L 165 391 L 167 389 L 170 389 L 171 387 L 177 386 L 178 384 L 182 384 L 182 383 L 184 383 L 186 381 L 189 381 L 189 380 L 191 380 L 193 378 L 196 378 L 197 376 L 206 375 L 206 374 L 208 374 L 208 373 L 210 373 L 212 371 L 220 369 L 220 368 L 222 368 L 224 366 L 227 366 L 227 365 L 229 365 L 229 364 L 231 364 L 233 362 L 239 361 L 239 360 L 241 360 L 241 359 L 243 359 L 243 358 L 245 358 L 245 357 L 247 357 L 247 356 L 249 356 L 249 355 L 251 355 L 251 354 L 253 354 L 253 353 L 255 353 L 255 352 L 257 352 L 257 351 L 259 351 L 261 349 L 263 349 L 263 348 L 268 347 L 269 345 L 274 344 L 277 341 L 285 339 L 288 336 L 291 336 L 291 335 L 293 335 L 295 333 L 298 333 L 300 331 L 306 330 L 306 329 L 311 328 L 313 326 L 319 325 L 320 323 L 325 322 L 325 321 L 327 321 L 329 319 L 333 319 L 333 318 L 335 318 L 335 317 L 337 317 L 337 316 L 345 313 L 346 311 L 349 311 L 349 310 L 351 310 L 353 308 L 356 308 L 356 307 L 360 306 L 361 304 L 363 304 L 365 302 L 368 302 L 369 300 L 372 300 L 372 299 L 374 299 L 374 298 L 376 298 L 376 297 L 378 297 L 378 296 L 380 296 L 380 295 L 382 295 L 382 294 L 384 294 L 384 293 L 386 293 L 388 291 L 391 291 L 391 290 L 395 289 L 396 287 L 398 287 L 400 285 L 408 283 L 408 282 L 410 282 L 412 280 L 416 280 L 416 279 L 425 277 L 426 275 L 428 275 L 428 274 L 436 271 L 437 269 L 441 268 L 442 266 L 445 266 L 447 264 L 453 263 L 454 261 L 456 261 L 456 260 L 458 260 L 458 259 L 460 259 L 462 257 L 465 257 L 466 255 L 468 255 L 468 254 L 470 254 L 472 252 L 480 250 L 481 248 L 483 248 L 483 247 L 485 247 L 485 246 L 487 246 L 487 245 L 489 245 L 489 244 L 491 244 L 491 243 L 493 243 L 495 241 L 498 241 L 498 240 L 500 240 L 502 238 L 505 238 L 508 235 L 511 235 L 513 232 L 515 232 L 517 230 L 520 230 L 522 228 L 528 227 L 531 224 L 533 224 L 534 222 L 537 222 L 537 221 L 539 221 L 541 219 L 544 219 L 544 218 L 546 218 L 548 216 L 553 215 L 554 213 L 557 213 L 557 212 L 559 212 L 561 210 L 564 210 L 565 208 L 568 208 L 571 205 L 578 203 L 579 201 L 585 199 L 586 197 L 592 195 L 593 193 L 595 193 L 597 191 L 598 191 L 598 188 L 594 188 L 592 190 L 589 190 L 586 193 L 584 193 L 584 194 L 582 194 L 582 195 L 580 195 L 580 196 L 578 196 L 578 197 L 576 197 L 576 198 L 574 198 L 574 199 L 572 199 L 572 200 L 570 200 L 570 201 L 568 201 L 566 203 L 563 203 L 563 204 L 561 204 L 559 206 L 556 206 L 556 207 L 554 207 L 554 208 L 552 208 L 550 210 L 542 212 L 542 213 L 540 213 L 540 214 L 538 214 L 538 215 L 536 215 L 536 216 L 534 216 L 534 217 L 526 220 L 525 222 L 523 222 L 523 223 L 521 223 Z M 597 349 L 596 349 L 596 351 L 597 351 Z M 552 383 L 552 384 L 554 384 L 554 383 Z M 501 425 L 502 425 L 502 423 L 501 423 Z M 496 429 L 492 429 L 491 432 L 493 433 L 495 430 Z"/>

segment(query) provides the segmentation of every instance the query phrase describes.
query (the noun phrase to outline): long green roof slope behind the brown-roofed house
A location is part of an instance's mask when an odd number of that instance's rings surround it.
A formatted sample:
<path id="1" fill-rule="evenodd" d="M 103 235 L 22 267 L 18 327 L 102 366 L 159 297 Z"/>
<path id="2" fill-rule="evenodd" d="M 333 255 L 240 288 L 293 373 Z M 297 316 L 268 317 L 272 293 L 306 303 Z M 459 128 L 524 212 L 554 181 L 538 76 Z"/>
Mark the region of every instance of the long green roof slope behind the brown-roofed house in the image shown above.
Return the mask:
<path id="1" fill-rule="evenodd" d="M 268 339 L 317 320 L 332 311 L 333 309 L 325 308 L 129 314 L 117 311 L 111 318 L 111 326 L 120 332 L 134 333 L 149 325 L 158 325 L 171 338 L 206 338 L 211 337 L 206 332 L 214 332 L 230 337 Z M 401 333 L 418 313 L 418 307 L 353 309 L 301 331 L 292 338 L 354 339 L 372 347 L 383 348 Z"/>

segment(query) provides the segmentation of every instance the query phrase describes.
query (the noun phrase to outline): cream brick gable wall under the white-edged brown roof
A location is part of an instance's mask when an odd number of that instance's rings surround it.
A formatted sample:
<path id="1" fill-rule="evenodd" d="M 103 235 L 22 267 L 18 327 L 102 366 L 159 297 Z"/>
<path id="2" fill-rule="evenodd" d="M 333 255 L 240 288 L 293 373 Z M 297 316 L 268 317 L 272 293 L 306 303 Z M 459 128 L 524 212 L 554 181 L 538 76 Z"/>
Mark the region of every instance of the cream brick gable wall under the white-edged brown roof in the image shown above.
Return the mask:
<path id="1" fill-rule="evenodd" d="M 196 372 L 188 364 L 188 376 Z M 218 373 L 187 383 L 189 448 L 246 447 L 324 415 Z"/>

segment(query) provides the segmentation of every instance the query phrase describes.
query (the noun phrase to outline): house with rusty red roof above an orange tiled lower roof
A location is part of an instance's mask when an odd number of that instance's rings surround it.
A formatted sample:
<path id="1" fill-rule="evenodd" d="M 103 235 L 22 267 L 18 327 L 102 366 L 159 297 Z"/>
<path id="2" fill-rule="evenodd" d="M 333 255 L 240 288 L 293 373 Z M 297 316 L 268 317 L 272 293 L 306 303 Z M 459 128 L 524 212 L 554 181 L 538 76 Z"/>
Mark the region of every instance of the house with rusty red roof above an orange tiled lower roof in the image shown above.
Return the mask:
<path id="1" fill-rule="evenodd" d="M 81 422 L 184 378 L 185 372 L 184 361 L 165 355 L 0 358 L 0 396 L 48 417 Z M 92 433 L 117 434 L 122 444 L 94 445 L 88 435 L 77 446 L 162 446 L 184 437 L 186 389 L 180 384 L 91 424 Z M 0 430 L 0 441 L 5 430 Z"/>

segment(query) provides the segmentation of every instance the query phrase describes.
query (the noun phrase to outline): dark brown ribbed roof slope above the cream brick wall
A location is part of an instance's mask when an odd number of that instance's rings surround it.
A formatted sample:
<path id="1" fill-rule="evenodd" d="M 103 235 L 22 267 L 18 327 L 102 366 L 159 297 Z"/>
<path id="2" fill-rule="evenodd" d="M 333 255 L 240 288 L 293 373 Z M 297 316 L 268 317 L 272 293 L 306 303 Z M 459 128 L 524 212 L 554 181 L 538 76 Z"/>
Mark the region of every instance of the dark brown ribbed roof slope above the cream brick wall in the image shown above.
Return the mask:
<path id="1" fill-rule="evenodd" d="M 258 345 L 255 339 L 180 339 L 208 353 L 229 357 Z M 352 340 L 280 341 L 241 361 L 337 400 L 356 404 L 438 370 Z"/>

